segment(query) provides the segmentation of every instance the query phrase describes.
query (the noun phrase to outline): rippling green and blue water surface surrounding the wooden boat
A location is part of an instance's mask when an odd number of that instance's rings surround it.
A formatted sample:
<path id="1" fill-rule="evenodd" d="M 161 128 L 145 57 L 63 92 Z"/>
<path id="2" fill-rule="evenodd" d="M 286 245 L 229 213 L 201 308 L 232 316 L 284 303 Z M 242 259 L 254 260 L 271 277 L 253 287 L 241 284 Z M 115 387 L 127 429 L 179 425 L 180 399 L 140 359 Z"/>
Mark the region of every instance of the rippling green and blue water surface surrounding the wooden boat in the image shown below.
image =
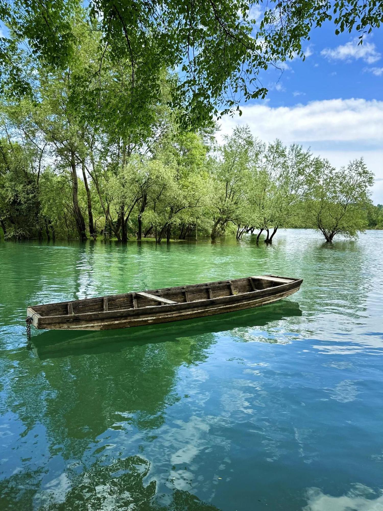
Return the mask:
<path id="1" fill-rule="evenodd" d="M 0 509 L 383 509 L 383 232 L 0 243 Z M 111 332 L 25 309 L 259 273 L 288 300 Z"/>

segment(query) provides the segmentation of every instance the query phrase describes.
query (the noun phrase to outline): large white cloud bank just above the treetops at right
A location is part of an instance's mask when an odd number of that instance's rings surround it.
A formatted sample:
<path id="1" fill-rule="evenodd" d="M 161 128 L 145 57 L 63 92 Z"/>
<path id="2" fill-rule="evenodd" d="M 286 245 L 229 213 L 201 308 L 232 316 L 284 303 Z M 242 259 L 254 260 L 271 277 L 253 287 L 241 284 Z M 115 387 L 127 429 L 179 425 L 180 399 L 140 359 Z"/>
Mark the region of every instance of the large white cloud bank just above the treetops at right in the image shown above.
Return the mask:
<path id="1" fill-rule="evenodd" d="M 224 117 L 217 135 L 222 142 L 235 125 L 248 124 L 265 142 L 280 138 L 313 147 L 336 167 L 363 156 L 377 178 L 383 178 L 383 101 L 332 99 L 307 104 L 272 107 L 261 103 L 241 107 L 242 117 Z M 373 200 L 383 202 L 383 181 L 373 188 Z"/>

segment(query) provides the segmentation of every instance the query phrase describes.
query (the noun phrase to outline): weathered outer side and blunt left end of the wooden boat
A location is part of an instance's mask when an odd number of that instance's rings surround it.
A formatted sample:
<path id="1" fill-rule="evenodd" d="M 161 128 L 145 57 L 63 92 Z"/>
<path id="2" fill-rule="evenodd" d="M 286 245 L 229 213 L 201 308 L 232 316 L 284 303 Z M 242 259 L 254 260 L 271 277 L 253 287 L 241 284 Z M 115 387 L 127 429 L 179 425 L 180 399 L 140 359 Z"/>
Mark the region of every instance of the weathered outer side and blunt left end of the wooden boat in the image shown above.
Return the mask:
<path id="1" fill-rule="evenodd" d="M 29 308 L 27 313 L 32 318 L 35 328 L 43 330 L 98 331 L 130 328 L 260 307 L 296 293 L 301 283 L 302 280 L 294 280 L 253 292 L 136 309 L 42 317 L 34 309 Z"/>

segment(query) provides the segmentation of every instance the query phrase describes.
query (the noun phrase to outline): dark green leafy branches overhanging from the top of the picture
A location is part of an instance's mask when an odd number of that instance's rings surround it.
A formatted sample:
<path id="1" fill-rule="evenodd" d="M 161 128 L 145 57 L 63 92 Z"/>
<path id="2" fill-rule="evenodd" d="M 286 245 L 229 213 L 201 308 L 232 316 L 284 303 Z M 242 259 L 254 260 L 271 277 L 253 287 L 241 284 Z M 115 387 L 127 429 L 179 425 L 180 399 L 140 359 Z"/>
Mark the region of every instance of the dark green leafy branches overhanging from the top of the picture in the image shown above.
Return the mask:
<path id="1" fill-rule="evenodd" d="M 0 20 L 10 36 L 0 38 L 1 84 L 8 96 L 32 92 L 28 69 L 19 59 L 20 42 L 45 67 L 65 70 L 78 60 L 83 32 L 96 35 L 98 54 L 88 69 L 77 101 L 88 91 L 89 81 L 102 83 L 105 67 L 126 61 L 129 67 L 126 95 L 130 115 L 117 113 L 124 127 L 145 128 L 146 114 L 161 98 L 165 70 L 177 71 L 177 86 L 169 103 L 187 114 L 184 126 L 203 126 L 219 111 L 238 108 L 241 100 L 264 97 L 258 74 L 286 59 L 304 58 L 302 43 L 310 30 L 326 21 L 338 34 L 353 29 L 363 34 L 379 27 L 383 18 L 378 0 L 91 0 L 83 11 L 80 0 L 0 0 Z M 102 87 L 88 96 L 98 104 Z"/>

